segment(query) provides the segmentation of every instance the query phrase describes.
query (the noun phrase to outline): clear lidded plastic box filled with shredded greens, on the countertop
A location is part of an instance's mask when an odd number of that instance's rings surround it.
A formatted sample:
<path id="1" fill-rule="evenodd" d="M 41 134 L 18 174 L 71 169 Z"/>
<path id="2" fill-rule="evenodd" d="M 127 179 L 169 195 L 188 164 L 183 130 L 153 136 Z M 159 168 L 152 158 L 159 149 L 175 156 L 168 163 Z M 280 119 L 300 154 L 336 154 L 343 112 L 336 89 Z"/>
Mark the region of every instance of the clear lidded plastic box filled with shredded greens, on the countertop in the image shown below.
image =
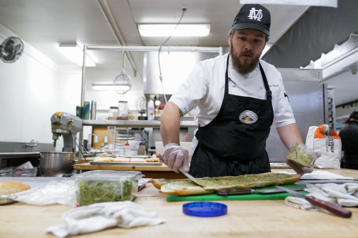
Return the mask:
<path id="1" fill-rule="evenodd" d="M 133 200 L 140 171 L 92 170 L 74 175 L 79 205 Z"/>

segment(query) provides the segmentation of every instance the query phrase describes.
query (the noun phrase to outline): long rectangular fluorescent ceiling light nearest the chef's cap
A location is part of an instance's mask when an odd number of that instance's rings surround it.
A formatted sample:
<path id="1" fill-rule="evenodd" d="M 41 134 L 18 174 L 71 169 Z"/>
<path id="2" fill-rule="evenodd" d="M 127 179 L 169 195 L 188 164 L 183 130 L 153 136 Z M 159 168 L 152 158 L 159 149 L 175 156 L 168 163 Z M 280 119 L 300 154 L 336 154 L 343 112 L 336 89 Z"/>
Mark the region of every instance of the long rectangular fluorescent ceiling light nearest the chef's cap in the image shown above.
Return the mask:
<path id="1" fill-rule="evenodd" d="M 208 36 L 210 24 L 138 24 L 141 36 Z"/>

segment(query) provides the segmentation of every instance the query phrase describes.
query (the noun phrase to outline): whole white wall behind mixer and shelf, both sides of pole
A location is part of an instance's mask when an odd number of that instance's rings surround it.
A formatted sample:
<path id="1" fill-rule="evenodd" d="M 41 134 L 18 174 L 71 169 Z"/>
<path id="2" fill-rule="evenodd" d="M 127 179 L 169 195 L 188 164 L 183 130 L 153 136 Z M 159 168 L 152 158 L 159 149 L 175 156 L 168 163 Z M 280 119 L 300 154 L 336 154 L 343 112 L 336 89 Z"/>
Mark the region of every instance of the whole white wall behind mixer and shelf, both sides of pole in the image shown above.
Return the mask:
<path id="1" fill-rule="evenodd" d="M 0 24 L 0 43 L 17 36 Z M 21 36 L 19 36 L 21 38 Z M 76 115 L 81 104 L 82 68 L 78 65 L 57 65 L 50 58 L 24 42 L 24 53 L 14 63 L 0 60 L 0 142 L 53 143 L 51 116 L 58 111 Z M 137 110 L 138 100 L 144 96 L 139 77 L 132 77 L 132 89 L 125 95 L 114 91 L 96 91 L 92 83 L 111 81 L 120 74 L 105 69 L 86 69 L 85 101 L 97 102 L 99 113 L 108 115 L 110 106 L 126 100 L 129 109 Z M 90 130 L 84 131 L 84 139 Z M 55 150 L 62 150 L 63 139 Z"/>

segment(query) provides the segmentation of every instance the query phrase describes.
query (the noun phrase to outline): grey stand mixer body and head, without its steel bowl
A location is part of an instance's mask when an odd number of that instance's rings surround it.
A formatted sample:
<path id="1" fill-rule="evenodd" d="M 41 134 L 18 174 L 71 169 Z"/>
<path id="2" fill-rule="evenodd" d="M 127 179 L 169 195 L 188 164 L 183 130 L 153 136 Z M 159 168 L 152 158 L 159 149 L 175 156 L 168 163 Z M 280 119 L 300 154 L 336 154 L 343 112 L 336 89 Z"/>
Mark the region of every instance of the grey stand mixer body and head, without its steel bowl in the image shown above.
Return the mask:
<path id="1" fill-rule="evenodd" d="M 82 130 L 82 119 L 78 116 L 65 112 L 57 112 L 51 117 L 51 132 L 53 146 L 56 147 L 56 140 L 63 136 L 63 152 L 75 152 L 76 135 Z"/>

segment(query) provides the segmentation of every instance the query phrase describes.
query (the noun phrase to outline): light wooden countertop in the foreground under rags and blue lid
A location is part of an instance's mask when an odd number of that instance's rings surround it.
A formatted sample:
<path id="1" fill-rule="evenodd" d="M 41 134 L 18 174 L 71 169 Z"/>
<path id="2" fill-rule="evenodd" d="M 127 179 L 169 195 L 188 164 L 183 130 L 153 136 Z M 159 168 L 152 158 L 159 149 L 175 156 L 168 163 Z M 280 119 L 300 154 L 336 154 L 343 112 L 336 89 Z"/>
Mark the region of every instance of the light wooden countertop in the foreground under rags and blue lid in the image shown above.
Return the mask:
<path id="1" fill-rule="evenodd" d="M 328 169 L 327 171 L 358 179 L 358 170 Z M 220 201 L 228 206 L 228 213 L 224 216 L 191 217 L 182 212 L 182 205 L 186 202 L 166 202 L 165 194 L 159 193 L 150 183 L 139 192 L 134 202 L 141 204 L 147 212 L 156 211 L 159 217 L 166 219 L 166 223 L 132 229 L 112 228 L 74 237 L 358 237 L 357 207 L 347 208 L 353 213 L 351 218 L 340 218 L 323 212 L 289 207 L 283 200 L 236 200 Z M 45 228 L 62 224 L 62 213 L 71 208 L 59 204 L 3 205 L 0 207 L 0 237 L 54 237 L 46 234 Z"/>

